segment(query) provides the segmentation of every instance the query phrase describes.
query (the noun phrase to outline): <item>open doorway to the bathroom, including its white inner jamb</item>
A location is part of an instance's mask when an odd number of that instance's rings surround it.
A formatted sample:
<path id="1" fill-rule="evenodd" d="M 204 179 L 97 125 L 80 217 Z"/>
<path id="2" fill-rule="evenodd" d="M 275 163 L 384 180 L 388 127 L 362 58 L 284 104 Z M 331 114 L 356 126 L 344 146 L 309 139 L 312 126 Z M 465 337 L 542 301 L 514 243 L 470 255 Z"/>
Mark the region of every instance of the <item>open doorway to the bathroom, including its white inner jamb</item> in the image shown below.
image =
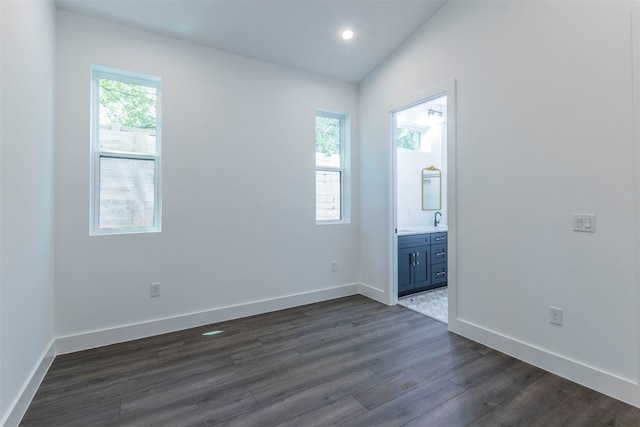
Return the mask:
<path id="1" fill-rule="evenodd" d="M 393 300 L 444 323 L 455 315 L 454 88 L 391 111 Z"/>

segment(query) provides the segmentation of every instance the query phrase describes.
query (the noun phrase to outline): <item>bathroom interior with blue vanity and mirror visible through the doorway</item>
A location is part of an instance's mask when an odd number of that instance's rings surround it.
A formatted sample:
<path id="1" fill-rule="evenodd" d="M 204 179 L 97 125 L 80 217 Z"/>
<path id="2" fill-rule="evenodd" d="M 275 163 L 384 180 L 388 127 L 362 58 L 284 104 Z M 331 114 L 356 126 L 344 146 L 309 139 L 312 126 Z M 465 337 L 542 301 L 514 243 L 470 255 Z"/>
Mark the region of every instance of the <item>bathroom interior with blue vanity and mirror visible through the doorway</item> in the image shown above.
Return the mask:
<path id="1" fill-rule="evenodd" d="M 447 322 L 447 96 L 394 113 L 398 304 Z"/>

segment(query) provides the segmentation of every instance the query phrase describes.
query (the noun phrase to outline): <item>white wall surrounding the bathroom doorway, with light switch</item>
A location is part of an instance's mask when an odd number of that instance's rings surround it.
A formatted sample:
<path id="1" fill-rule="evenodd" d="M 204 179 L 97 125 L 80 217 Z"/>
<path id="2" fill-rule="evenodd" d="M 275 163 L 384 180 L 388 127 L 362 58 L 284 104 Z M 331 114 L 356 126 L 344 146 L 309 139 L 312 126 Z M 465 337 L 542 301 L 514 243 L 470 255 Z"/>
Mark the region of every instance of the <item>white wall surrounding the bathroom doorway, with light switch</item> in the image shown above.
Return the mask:
<path id="1" fill-rule="evenodd" d="M 363 282 L 389 291 L 389 107 L 456 79 L 450 328 L 639 405 L 631 59 L 629 2 L 448 2 L 361 85 Z"/>

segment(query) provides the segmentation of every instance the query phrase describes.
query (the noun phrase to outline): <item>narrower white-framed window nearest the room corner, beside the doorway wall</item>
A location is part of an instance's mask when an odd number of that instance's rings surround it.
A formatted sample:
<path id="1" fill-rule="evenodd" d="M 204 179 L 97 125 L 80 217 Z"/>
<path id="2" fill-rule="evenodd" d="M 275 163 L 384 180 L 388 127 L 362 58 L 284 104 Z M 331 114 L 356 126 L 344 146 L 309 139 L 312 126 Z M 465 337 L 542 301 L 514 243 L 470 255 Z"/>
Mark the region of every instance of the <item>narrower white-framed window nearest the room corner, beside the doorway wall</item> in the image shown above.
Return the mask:
<path id="1" fill-rule="evenodd" d="M 316 223 L 349 220 L 349 120 L 316 112 Z"/>

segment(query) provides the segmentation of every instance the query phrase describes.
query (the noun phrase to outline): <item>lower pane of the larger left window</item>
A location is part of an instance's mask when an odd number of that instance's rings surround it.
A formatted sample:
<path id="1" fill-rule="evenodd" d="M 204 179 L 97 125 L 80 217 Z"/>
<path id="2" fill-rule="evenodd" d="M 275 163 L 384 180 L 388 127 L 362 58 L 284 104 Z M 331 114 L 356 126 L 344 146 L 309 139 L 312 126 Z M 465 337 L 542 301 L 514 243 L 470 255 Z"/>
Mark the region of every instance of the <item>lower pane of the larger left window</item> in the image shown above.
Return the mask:
<path id="1" fill-rule="evenodd" d="M 100 228 L 152 227 L 154 160 L 100 159 Z"/>

